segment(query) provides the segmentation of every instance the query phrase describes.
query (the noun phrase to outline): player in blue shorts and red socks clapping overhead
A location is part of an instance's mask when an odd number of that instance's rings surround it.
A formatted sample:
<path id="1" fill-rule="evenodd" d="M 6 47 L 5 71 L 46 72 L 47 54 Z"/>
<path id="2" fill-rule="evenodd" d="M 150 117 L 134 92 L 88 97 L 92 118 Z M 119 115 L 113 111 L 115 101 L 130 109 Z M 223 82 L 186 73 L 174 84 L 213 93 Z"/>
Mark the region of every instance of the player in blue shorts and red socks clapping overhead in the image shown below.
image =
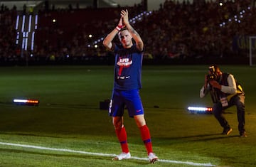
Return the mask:
<path id="1" fill-rule="evenodd" d="M 118 34 L 121 45 L 112 43 Z M 133 43 L 133 41 L 135 43 Z M 129 117 L 133 117 L 140 130 L 142 141 L 146 146 L 149 162 L 154 163 L 158 157 L 153 152 L 151 136 L 144 119 L 144 109 L 139 90 L 142 88 L 142 58 L 144 43 L 137 31 L 129 24 L 128 11 L 121 11 L 121 18 L 114 30 L 103 41 L 103 45 L 114 52 L 114 88 L 110 100 L 109 114 L 112 117 L 114 129 L 119 139 L 122 153 L 113 160 L 131 158 L 127 143 L 127 132 L 124 128 L 124 107 L 127 107 Z"/>

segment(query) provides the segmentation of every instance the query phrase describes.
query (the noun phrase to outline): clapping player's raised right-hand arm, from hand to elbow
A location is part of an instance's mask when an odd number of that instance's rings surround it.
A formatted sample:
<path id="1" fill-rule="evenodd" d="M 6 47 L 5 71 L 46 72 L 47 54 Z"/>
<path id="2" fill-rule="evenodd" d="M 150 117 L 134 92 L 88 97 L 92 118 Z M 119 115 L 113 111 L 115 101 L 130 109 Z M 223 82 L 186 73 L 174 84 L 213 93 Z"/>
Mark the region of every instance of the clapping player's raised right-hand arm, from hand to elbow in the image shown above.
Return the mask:
<path id="1" fill-rule="evenodd" d="M 142 38 L 139 36 L 139 33 L 134 30 L 134 28 L 130 25 L 129 23 L 129 17 L 128 17 L 128 11 L 127 10 L 122 10 L 121 11 L 121 16 L 124 21 L 124 26 L 127 27 L 127 30 L 132 34 L 132 38 L 134 38 L 134 41 L 137 44 L 137 48 L 142 51 L 144 47 L 144 43 L 142 41 Z"/>

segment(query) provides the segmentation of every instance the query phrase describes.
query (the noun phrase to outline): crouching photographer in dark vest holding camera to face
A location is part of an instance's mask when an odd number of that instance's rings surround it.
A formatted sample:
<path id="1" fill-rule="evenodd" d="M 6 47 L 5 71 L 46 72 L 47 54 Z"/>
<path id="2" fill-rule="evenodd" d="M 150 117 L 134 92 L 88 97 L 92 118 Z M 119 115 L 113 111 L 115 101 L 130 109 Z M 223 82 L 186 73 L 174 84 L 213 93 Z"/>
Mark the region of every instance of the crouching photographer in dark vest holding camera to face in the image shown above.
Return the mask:
<path id="1" fill-rule="evenodd" d="M 208 92 L 213 100 L 213 114 L 223 127 L 225 135 L 232 131 L 228 121 L 223 116 L 225 109 L 236 106 L 238 112 L 238 130 L 240 136 L 245 134 L 245 93 L 241 85 L 232 74 L 221 72 L 218 65 L 210 65 L 208 75 L 205 76 L 205 84 L 201 88 L 200 97 L 205 97 Z"/>

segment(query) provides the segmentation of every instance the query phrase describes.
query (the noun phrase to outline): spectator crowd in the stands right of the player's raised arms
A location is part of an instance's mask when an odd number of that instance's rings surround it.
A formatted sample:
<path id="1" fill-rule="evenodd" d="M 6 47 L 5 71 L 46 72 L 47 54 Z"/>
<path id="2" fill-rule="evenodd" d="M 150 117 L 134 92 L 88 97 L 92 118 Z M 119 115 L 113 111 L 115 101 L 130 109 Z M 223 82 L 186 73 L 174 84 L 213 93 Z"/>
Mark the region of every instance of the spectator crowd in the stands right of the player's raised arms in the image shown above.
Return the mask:
<path id="1" fill-rule="evenodd" d="M 255 8 L 248 10 L 248 6 L 250 0 L 226 1 L 223 6 L 213 1 L 201 4 L 166 1 L 137 27 L 143 27 L 139 31 L 146 39 L 146 51 L 154 58 L 234 56 L 238 53 L 233 51 L 233 37 L 255 34 Z M 242 10 L 246 12 L 241 23 L 228 21 L 239 17 Z M 225 26 L 220 26 L 224 21 Z"/>

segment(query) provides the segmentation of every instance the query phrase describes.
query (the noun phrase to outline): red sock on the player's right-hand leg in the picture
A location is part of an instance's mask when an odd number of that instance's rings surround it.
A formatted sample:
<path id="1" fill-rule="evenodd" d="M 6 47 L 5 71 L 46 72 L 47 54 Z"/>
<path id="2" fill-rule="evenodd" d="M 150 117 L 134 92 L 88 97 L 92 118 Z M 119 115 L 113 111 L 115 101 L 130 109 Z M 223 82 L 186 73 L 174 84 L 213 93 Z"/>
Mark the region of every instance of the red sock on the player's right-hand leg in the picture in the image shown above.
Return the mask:
<path id="1" fill-rule="evenodd" d="M 148 154 L 152 153 L 153 149 L 152 149 L 151 136 L 150 136 L 148 126 L 144 125 L 144 126 L 140 127 L 139 129 L 141 131 L 142 141 L 144 142 L 144 144 L 146 146 L 147 153 Z"/>

